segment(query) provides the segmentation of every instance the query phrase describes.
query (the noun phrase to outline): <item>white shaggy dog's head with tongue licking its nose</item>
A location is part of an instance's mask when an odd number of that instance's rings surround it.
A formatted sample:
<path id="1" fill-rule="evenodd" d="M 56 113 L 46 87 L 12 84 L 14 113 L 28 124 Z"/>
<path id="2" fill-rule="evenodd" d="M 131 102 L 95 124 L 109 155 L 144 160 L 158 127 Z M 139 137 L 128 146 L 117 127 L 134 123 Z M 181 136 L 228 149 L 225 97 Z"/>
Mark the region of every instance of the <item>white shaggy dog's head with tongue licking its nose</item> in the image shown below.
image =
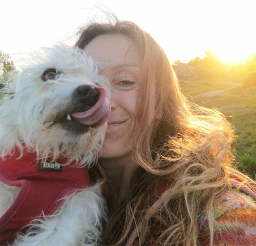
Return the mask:
<path id="1" fill-rule="evenodd" d="M 26 146 L 40 158 L 91 163 L 110 114 L 108 80 L 79 48 L 46 48 L 34 60 L 7 76 L 0 106 L 2 155 Z"/>

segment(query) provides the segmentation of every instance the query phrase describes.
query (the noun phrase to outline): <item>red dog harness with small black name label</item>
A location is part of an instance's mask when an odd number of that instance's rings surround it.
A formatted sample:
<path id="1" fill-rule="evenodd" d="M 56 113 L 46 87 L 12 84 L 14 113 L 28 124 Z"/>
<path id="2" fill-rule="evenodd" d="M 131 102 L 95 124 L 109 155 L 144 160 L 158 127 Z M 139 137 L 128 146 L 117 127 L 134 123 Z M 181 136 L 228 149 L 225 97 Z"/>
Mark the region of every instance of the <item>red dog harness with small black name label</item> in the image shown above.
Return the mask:
<path id="1" fill-rule="evenodd" d="M 90 187 L 86 168 L 60 166 L 65 163 L 61 159 L 41 162 L 38 169 L 36 153 L 27 153 L 20 159 L 18 156 L 0 158 L 0 181 L 20 187 L 14 203 L 0 218 L 1 245 L 12 240 L 33 218 L 52 215 L 65 196 Z"/>

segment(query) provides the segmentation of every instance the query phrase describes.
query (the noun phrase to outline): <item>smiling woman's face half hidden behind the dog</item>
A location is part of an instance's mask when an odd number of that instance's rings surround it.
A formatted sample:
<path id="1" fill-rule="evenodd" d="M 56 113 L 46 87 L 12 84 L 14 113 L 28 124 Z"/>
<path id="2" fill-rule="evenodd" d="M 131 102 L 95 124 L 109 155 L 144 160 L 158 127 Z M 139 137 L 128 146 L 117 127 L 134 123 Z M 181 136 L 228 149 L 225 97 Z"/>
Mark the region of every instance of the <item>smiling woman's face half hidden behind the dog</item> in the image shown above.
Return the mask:
<path id="1" fill-rule="evenodd" d="M 131 157 L 139 128 L 137 99 L 140 87 L 142 60 L 133 40 L 119 34 L 101 35 L 85 48 L 87 55 L 99 62 L 111 85 L 111 115 L 102 146 L 101 158 Z M 150 107 L 155 115 L 155 88 L 152 88 Z"/>

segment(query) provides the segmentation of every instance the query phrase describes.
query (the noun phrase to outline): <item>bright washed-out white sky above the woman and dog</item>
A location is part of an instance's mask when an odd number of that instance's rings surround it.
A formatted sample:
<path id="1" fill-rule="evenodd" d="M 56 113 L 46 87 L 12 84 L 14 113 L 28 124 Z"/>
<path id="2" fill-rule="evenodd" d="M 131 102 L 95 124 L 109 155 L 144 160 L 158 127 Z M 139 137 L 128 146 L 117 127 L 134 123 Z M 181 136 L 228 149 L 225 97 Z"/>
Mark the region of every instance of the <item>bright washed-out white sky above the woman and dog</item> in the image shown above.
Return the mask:
<path id="1" fill-rule="evenodd" d="M 171 62 L 211 50 L 223 63 L 243 64 L 256 54 L 255 7 L 256 0 L 0 0 L 0 49 L 19 66 L 40 46 L 74 44 L 77 28 L 107 8 L 151 34 Z"/>

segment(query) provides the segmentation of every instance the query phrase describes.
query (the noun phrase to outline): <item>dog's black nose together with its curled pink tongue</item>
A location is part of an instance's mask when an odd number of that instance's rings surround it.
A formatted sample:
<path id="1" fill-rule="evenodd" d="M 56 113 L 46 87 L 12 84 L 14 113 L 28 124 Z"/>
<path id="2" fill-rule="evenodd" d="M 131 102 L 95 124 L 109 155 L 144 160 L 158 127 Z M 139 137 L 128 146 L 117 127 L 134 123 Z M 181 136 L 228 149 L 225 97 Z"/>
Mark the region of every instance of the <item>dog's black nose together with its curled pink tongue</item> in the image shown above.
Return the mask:
<path id="1" fill-rule="evenodd" d="M 70 114 L 71 121 L 98 128 L 108 119 L 111 106 L 106 98 L 103 87 L 95 85 L 80 85 L 73 92 L 75 112 Z"/>

